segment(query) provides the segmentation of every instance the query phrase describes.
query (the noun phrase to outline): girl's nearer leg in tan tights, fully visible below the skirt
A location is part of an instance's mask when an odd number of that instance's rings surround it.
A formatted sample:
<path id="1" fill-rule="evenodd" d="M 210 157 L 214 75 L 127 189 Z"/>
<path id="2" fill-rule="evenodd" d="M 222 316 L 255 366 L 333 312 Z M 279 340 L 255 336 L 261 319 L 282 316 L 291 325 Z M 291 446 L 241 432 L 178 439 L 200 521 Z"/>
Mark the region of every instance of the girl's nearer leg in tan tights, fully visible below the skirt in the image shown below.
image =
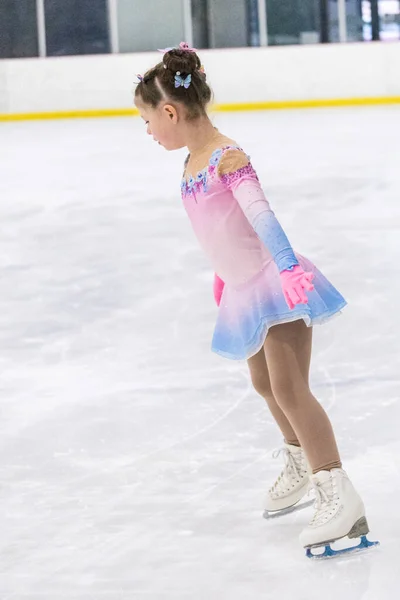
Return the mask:
<path id="1" fill-rule="evenodd" d="M 271 392 L 314 473 L 341 468 L 329 418 L 308 384 L 312 329 L 303 320 L 271 327 L 264 352 Z"/>

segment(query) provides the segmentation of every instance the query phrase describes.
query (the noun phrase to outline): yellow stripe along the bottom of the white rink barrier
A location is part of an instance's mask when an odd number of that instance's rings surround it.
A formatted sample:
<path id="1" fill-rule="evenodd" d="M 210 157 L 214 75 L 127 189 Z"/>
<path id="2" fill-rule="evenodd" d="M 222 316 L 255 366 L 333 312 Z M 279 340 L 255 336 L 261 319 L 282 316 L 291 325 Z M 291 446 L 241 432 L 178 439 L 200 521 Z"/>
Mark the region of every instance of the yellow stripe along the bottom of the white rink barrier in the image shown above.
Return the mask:
<path id="1" fill-rule="evenodd" d="M 328 98 L 318 100 L 277 100 L 268 102 L 233 102 L 214 104 L 212 112 L 238 112 L 254 110 L 282 110 L 294 108 L 327 108 L 341 106 L 373 106 L 400 104 L 400 96 L 367 98 Z M 33 121 L 43 119 L 86 119 L 99 117 L 137 116 L 135 108 L 110 108 L 94 110 L 67 110 L 36 113 L 0 113 L 0 121 Z"/>

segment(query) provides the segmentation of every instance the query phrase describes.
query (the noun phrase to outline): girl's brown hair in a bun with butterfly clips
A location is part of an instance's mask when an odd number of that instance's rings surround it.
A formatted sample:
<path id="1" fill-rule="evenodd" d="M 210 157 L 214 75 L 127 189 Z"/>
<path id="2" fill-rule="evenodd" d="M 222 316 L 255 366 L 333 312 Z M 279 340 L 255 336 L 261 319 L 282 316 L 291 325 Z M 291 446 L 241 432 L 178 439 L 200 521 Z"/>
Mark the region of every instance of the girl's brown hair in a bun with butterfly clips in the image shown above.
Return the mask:
<path id="1" fill-rule="evenodd" d="M 176 75 L 182 79 L 191 75 L 189 87 L 175 87 Z M 199 57 L 196 52 L 182 47 L 165 52 L 162 62 L 145 73 L 135 90 L 135 98 L 140 98 L 152 108 L 156 108 L 163 99 L 180 102 L 187 109 L 187 119 L 190 120 L 206 114 L 211 97 L 211 88 Z"/>

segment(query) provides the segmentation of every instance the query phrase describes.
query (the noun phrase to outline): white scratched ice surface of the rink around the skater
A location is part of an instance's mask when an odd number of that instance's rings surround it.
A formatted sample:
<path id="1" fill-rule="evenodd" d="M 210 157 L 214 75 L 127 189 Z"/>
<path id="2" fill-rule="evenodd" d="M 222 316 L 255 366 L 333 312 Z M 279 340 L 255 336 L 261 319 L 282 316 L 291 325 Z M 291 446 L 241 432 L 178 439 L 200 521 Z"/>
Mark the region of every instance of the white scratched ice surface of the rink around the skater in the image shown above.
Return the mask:
<path id="1" fill-rule="evenodd" d="M 267 522 L 281 439 L 210 352 L 185 153 L 139 119 L 0 126 L 0 599 L 380 600 L 399 590 L 400 107 L 219 115 L 293 246 L 347 298 L 312 389 L 363 496 L 364 555 Z"/>

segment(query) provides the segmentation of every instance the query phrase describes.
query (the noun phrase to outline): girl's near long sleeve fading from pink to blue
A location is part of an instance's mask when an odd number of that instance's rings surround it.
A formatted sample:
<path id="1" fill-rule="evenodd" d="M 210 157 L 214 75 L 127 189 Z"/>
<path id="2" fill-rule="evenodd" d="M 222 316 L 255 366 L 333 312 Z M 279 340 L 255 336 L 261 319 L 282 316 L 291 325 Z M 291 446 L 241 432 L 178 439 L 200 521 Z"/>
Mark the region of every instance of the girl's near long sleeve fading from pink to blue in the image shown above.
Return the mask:
<path id="1" fill-rule="evenodd" d="M 230 150 L 229 155 L 227 153 L 221 160 L 219 173 L 250 225 L 268 248 L 279 271 L 298 265 L 293 248 L 271 210 L 247 156 L 239 150 Z"/>

